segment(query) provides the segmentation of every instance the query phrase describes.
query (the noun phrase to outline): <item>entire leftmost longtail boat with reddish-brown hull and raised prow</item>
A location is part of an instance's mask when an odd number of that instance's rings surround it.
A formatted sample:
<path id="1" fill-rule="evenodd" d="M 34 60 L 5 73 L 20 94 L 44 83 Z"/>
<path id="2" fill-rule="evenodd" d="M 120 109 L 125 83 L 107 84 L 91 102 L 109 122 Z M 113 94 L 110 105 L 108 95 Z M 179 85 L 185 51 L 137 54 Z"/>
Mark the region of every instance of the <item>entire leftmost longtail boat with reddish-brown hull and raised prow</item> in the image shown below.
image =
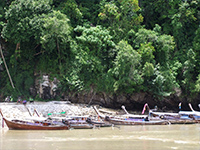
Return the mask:
<path id="1" fill-rule="evenodd" d="M 3 120 L 6 122 L 9 130 L 68 130 L 69 126 L 62 122 L 48 122 L 48 121 L 26 121 L 20 119 L 6 119 L 3 116 L 2 111 L 0 114 Z"/>

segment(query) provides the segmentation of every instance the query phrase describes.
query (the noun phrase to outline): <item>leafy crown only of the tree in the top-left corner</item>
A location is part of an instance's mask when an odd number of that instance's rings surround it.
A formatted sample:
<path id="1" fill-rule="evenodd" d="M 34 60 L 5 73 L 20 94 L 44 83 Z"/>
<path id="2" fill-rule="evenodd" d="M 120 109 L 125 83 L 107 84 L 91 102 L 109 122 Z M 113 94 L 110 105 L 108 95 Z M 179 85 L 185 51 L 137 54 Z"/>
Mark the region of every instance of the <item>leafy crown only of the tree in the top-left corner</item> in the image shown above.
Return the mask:
<path id="1" fill-rule="evenodd" d="M 42 15 L 49 13 L 50 10 L 49 0 L 13 1 L 5 13 L 8 21 L 3 28 L 2 36 L 15 44 L 21 41 L 28 42 L 33 35 L 38 37 Z"/>

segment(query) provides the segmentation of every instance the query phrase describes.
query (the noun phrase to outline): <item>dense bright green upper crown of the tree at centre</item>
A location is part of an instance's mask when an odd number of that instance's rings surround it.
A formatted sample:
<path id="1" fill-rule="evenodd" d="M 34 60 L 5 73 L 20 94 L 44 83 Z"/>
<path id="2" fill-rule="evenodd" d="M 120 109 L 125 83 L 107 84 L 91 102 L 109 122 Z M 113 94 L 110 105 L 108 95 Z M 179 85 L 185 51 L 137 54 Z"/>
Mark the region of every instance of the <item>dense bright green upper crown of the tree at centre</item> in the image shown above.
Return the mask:
<path id="1" fill-rule="evenodd" d="M 81 50 L 83 50 L 80 57 L 85 57 L 82 59 L 82 63 L 90 64 L 93 60 L 93 62 L 97 61 L 103 68 L 108 69 L 115 54 L 115 43 L 112 41 L 109 31 L 101 26 L 90 28 L 78 26 L 75 28 L 75 32 L 77 35 L 81 35 L 77 37 L 77 40 L 81 45 Z M 79 60 L 81 59 L 79 58 Z"/>

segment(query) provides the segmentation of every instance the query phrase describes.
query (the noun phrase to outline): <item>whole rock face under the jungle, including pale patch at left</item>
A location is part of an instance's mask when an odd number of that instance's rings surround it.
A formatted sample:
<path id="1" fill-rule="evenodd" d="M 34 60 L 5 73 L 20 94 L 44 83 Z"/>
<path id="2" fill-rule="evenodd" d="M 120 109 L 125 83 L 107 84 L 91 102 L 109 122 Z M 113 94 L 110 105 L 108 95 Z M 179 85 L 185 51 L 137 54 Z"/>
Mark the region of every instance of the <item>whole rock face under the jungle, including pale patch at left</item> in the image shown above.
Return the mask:
<path id="1" fill-rule="evenodd" d="M 187 98 L 180 98 L 181 91 L 169 97 L 163 97 L 162 99 L 155 99 L 150 93 L 139 92 L 133 94 L 114 94 L 109 95 L 103 92 L 96 93 L 94 90 L 83 93 L 61 93 L 58 88 L 60 84 L 57 78 L 50 80 L 49 75 L 42 75 L 35 82 L 35 86 L 30 88 L 30 94 L 34 98 L 38 95 L 40 98 L 45 100 L 55 100 L 56 97 L 61 97 L 59 100 L 70 101 L 72 103 L 80 103 L 87 105 L 100 105 L 109 108 L 120 108 L 124 105 L 127 110 L 142 110 L 145 103 L 148 103 L 150 108 L 157 106 L 161 111 L 177 110 L 178 104 L 183 103 L 183 108 L 188 109 L 187 105 L 190 100 Z M 93 89 L 93 88 L 91 88 Z M 1 96 L 1 95 L 0 95 Z M 200 97 L 200 95 L 198 96 Z M 200 98 L 197 97 L 194 105 L 198 106 Z M 185 104 L 184 104 L 185 103 Z M 185 106 L 184 106 L 185 105 Z"/>

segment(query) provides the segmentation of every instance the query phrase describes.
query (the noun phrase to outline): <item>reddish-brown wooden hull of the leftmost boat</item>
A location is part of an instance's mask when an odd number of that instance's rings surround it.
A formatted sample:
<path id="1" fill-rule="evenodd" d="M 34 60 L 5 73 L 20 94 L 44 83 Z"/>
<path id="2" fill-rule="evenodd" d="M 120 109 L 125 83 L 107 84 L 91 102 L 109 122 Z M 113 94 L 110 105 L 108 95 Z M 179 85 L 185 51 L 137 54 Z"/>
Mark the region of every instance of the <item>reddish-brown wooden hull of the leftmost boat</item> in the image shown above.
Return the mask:
<path id="1" fill-rule="evenodd" d="M 69 126 L 43 125 L 41 123 L 14 122 L 3 118 L 9 130 L 68 130 Z"/>

